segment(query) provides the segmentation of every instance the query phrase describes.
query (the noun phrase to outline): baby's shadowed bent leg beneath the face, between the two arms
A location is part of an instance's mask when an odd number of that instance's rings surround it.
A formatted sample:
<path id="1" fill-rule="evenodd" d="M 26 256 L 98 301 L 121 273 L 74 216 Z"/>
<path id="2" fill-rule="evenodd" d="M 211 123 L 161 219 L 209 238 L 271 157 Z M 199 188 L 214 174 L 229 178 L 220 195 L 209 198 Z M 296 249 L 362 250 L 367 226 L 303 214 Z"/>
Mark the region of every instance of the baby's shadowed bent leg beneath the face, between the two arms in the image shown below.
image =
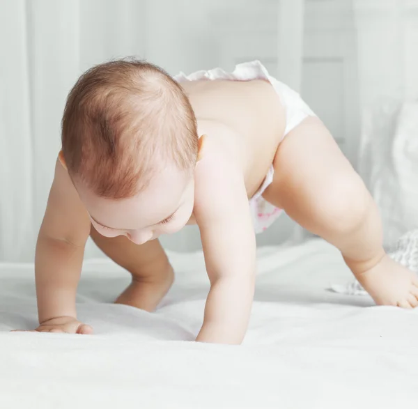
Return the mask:
<path id="1" fill-rule="evenodd" d="M 173 284 L 173 269 L 158 240 L 135 245 L 125 236 L 106 238 L 93 226 L 91 238 L 115 263 L 132 274 L 132 283 L 116 299 L 118 304 L 153 311 Z"/>

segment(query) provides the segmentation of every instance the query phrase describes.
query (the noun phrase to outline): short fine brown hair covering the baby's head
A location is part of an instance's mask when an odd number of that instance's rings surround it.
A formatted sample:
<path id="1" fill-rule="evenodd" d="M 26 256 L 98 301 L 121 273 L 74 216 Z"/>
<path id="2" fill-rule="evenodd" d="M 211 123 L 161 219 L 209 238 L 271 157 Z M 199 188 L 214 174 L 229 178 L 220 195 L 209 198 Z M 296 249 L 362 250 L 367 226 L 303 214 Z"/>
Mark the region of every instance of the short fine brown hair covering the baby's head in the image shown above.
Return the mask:
<path id="1" fill-rule="evenodd" d="M 198 134 L 183 89 L 162 68 L 136 59 L 96 65 L 68 94 L 63 156 L 72 178 L 102 197 L 132 197 L 168 161 L 192 169 Z"/>

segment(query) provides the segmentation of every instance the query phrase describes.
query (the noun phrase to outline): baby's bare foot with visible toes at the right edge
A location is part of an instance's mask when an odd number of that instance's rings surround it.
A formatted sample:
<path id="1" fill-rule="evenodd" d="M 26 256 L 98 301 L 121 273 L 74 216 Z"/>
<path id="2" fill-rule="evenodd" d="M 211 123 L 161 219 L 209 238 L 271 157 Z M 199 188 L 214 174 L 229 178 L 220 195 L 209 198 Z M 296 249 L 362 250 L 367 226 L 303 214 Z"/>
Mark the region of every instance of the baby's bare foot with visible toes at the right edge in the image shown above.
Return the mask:
<path id="1" fill-rule="evenodd" d="M 378 305 L 418 306 L 418 276 L 387 255 L 356 278 Z"/>

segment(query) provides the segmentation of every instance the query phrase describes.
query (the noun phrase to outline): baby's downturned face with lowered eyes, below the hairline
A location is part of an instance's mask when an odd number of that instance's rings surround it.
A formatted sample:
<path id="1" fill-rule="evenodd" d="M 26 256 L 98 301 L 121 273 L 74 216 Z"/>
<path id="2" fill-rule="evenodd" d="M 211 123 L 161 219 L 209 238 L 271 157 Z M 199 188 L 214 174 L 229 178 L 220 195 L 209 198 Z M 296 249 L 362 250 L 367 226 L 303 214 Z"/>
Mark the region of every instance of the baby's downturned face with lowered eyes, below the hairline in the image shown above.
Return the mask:
<path id="1" fill-rule="evenodd" d="M 194 206 L 193 173 L 175 168 L 157 173 L 146 190 L 130 199 L 103 199 L 82 185 L 76 188 L 98 233 L 127 236 L 138 245 L 182 229 Z"/>

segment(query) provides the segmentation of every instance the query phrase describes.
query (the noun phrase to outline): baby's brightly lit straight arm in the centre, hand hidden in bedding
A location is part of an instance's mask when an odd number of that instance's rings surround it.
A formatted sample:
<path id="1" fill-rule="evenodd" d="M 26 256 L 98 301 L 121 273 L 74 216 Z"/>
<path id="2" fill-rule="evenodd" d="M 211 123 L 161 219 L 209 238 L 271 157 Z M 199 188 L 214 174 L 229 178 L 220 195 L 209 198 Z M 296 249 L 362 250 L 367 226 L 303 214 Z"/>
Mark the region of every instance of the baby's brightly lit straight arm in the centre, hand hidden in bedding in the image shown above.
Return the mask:
<path id="1" fill-rule="evenodd" d="M 254 227 L 242 172 L 230 157 L 211 153 L 214 146 L 206 145 L 196 167 L 194 213 L 210 292 L 196 341 L 240 344 L 254 297 Z"/>

